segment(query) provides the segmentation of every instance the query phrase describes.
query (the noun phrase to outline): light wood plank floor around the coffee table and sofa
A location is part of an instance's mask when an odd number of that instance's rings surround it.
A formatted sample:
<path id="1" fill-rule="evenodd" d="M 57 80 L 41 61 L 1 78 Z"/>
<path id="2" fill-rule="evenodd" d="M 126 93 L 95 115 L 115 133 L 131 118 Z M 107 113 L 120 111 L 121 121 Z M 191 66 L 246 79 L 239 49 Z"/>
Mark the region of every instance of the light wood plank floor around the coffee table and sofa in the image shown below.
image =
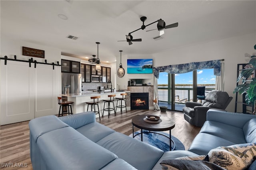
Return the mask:
<path id="1" fill-rule="evenodd" d="M 132 133 L 132 117 L 135 115 L 162 115 L 167 116 L 175 121 L 175 127 L 172 129 L 172 135 L 178 138 L 188 150 L 192 140 L 200 131 L 199 127 L 194 127 L 184 120 L 183 113 L 170 112 L 166 113 L 154 110 L 133 110 L 118 112 L 116 116 L 110 115 L 108 118 L 107 113 L 104 113 L 104 117 L 97 118 L 97 122 L 100 122 L 107 127 L 110 127 L 117 132 L 129 135 Z M 136 129 L 135 130 L 139 130 Z M 166 131 L 168 133 L 168 131 Z M 3 163 L 12 163 L 11 167 L 3 167 Z M 27 167 L 14 167 L 17 164 L 23 164 Z M 32 170 L 32 164 L 30 160 L 30 146 L 29 146 L 29 128 L 28 121 L 14 123 L 10 125 L 3 125 L 0 127 L 0 169 L 1 170 Z"/>

